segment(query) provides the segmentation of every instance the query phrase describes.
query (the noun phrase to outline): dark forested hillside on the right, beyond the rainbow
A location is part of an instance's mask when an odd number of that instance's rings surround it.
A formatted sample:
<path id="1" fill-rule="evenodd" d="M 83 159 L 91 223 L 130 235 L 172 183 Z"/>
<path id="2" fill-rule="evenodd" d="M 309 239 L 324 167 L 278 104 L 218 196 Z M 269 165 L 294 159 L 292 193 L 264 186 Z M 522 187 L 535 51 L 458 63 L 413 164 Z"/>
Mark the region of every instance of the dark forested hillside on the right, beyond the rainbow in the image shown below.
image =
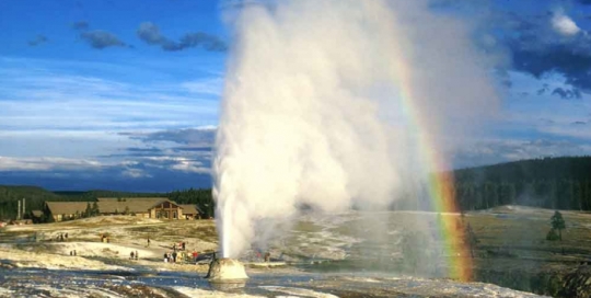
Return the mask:
<path id="1" fill-rule="evenodd" d="M 591 210 L 591 157 L 522 160 L 453 172 L 463 210 L 500 205 Z"/>

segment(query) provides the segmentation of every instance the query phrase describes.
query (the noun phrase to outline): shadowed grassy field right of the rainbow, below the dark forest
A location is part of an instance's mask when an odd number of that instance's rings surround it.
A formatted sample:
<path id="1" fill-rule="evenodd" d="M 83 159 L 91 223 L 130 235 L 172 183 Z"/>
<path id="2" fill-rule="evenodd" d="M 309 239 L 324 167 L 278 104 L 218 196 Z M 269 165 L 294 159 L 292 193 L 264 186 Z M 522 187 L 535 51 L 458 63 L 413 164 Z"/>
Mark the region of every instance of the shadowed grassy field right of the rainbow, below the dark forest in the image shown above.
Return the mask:
<path id="1" fill-rule="evenodd" d="M 478 260 L 505 260 L 523 265 L 570 266 L 591 261 L 591 214 L 563 211 L 563 240 L 548 241 L 553 210 L 499 207 L 467 217 L 479 240 Z M 525 262 L 525 263 L 526 263 Z"/>

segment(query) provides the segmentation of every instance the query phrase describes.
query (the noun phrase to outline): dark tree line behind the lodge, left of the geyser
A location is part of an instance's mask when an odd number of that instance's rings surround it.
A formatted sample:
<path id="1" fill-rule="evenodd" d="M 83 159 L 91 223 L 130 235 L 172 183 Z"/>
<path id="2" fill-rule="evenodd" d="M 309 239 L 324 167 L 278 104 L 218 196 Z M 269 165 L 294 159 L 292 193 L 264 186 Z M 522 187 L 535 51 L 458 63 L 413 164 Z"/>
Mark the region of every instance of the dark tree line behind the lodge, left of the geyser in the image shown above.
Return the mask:
<path id="1" fill-rule="evenodd" d="M 49 192 L 36 186 L 7 186 L 0 185 L 0 220 L 16 219 L 19 200 L 25 198 L 26 214 L 31 210 L 43 210 L 45 202 L 95 202 L 99 197 L 167 197 L 178 204 L 195 204 L 205 217 L 213 217 L 216 205 L 211 188 L 189 188 L 171 193 L 131 193 L 112 191 L 89 192 Z M 96 204 L 91 204 L 79 217 L 90 217 L 99 214 Z M 121 210 L 125 214 L 125 210 Z"/>

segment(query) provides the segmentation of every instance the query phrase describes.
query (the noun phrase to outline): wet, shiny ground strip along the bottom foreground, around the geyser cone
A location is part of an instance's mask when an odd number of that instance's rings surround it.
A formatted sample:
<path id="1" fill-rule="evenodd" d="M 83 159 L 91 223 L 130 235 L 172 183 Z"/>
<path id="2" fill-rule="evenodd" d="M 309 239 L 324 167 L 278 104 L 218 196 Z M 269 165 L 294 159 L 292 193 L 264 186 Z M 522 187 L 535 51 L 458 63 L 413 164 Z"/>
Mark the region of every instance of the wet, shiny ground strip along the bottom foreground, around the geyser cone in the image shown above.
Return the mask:
<path id="1" fill-rule="evenodd" d="M 183 272 L 0 270 L 0 297 L 537 297 L 488 284 L 384 274 L 250 272 L 245 284 L 210 284 Z"/>

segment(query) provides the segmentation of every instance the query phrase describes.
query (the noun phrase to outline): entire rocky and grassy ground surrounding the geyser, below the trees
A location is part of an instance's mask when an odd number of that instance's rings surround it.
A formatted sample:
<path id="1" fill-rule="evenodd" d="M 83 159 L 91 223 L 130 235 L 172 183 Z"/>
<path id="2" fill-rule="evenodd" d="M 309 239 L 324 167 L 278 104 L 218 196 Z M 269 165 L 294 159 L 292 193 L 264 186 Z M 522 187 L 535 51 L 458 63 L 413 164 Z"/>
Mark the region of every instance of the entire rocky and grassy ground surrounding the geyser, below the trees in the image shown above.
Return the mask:
<path id="1" fill-rule="evenodd" d="M 11 226 L 0 229 L 0 297 L 43 297 L 39 290 L 48 293 L 45 297 L 65 297 L 68 295 L 62 294 L 77 290 L 71 297 L 528 296 L 488 284 L 445 279 L 453 257 L 470 256 L 444 250 L 437 227 L 441 217 L 472 226 L 478 239 L 472 267 L 475 280 L 548 296 L 589 297 L 584 295 L 591 293 L 591 275 L 584 262 L 591 255 L 591 215 L 563 213 L 567 224 L 563 241 L 546 241 L 552 214 L 506 206 L 470 213 L 463 219 L 453 214 L 413 211 L 304 216 L 290 232 L 271 236 L 265 247 L 245 253 L 243 261 L 250 263 L 252 278 L 245 289 L 230 291 L 219 291 L 201 278 L 208 270 L 207 260 L 201 264 L 162 260 L 178 242 L 200 255 L 216 251 L 212 220 L 114 216 Z M 68 233 L 67 241 L 56 241 L 60 233 Z M 102 242 L 102 236 L 109 242 Z M 77 255 L 70 255 L 74 250 Z M 129 253 L 136 251 L 139 260 L 129 260 Z M 287 266 L 260 266 L 262 251 L 271 253 L 273 264 Z M 99 272 L 99 277 L 89 271 Z M 67 274 L 72 272 L 80 274 Z M 46 275 L 58 282 L 30 286 L 21 278 L 36 280 Z M 370 277 L 360 277 L 366 275 Z"/>

